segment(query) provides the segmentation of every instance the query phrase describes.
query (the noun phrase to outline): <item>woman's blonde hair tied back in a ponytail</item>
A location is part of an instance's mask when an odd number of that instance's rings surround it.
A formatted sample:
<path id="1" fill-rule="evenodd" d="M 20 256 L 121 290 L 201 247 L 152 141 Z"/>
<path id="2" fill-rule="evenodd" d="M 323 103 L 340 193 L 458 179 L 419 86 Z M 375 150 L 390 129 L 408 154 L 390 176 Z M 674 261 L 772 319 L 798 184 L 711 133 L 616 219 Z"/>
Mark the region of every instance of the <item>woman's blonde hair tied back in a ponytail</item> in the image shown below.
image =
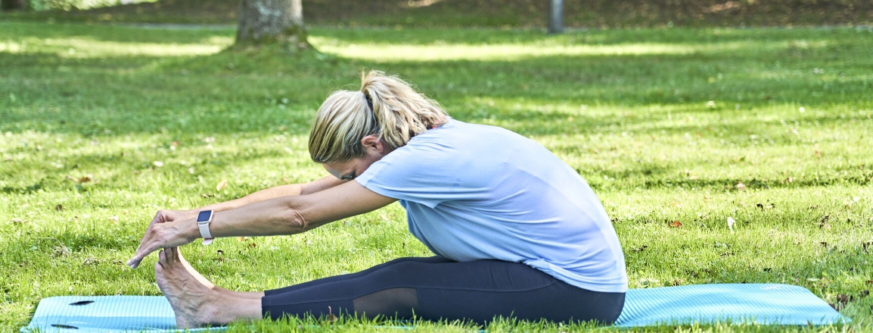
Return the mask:
<path id="1" fill-rule="evenodd" d="M 439 103 L 402 78 L 361 72 L 360 92 L 333 92 L 321 104 L 309 133 L 309 154 L 318 163 L 361 158 L 366 155 L 361 139 L 371 134 L 396 149 L 418 133 L 443 126 L 447 116 Z"/>

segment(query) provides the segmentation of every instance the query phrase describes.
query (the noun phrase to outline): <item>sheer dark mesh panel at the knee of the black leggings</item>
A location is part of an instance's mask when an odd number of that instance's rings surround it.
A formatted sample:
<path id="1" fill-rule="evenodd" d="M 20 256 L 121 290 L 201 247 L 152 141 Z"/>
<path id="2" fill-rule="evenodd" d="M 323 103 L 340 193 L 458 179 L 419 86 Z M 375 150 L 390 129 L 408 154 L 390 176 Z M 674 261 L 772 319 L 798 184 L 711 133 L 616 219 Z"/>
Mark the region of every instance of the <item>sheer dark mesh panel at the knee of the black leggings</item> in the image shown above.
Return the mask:
<path id="1" fill-rule="evenodd" d="M 409 319 L 418 308 L 418 292 L 414 288 L 382 289 L 354 299 L 354 312 L 369 318 L 386 316 Z"/>

